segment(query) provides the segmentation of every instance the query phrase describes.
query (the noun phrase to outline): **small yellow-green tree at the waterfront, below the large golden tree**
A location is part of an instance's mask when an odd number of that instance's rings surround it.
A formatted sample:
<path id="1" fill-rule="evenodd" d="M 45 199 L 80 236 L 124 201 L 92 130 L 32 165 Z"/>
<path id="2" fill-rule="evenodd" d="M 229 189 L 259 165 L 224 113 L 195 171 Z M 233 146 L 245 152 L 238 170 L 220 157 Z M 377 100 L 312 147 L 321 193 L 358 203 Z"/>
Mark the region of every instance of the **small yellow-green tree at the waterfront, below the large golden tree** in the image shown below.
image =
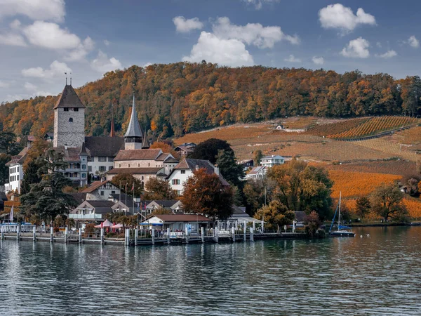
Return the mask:
<path id="1" fill-rule="evenodd" d="M 277 232 L 283 225 L 290 225 L 295 219 L 295 213 L 279 201 L 272 201 L 254 214 L 254 218 L 264 220 L 269 229 L 276 228 Z"/>

